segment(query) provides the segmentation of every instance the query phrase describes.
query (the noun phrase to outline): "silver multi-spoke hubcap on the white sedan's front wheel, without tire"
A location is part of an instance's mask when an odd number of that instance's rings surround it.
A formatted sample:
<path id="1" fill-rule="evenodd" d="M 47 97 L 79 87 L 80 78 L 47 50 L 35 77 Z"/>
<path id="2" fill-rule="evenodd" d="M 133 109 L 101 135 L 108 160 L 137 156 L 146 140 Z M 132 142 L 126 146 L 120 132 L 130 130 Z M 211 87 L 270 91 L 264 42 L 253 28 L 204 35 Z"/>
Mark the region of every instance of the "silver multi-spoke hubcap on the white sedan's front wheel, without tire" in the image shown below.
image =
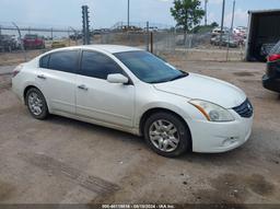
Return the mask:
<path id="1" fill-rule="evenodd" d="M 163 119 L 150 126 L 149 137 L 153 146 L 164 152 L 173 152 L 179 143 L 177 128 L 171 121 Z"/>

